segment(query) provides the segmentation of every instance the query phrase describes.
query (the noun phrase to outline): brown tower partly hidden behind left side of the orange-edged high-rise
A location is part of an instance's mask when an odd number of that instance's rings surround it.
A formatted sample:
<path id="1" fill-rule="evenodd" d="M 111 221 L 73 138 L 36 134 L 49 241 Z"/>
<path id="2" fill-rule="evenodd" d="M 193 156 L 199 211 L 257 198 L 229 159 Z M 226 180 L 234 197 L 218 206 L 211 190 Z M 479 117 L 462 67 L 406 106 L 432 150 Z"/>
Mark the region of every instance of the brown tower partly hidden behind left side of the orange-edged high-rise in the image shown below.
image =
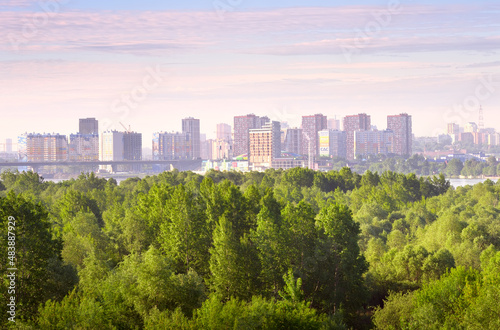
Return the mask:
<path id="1" fill-rule="evenodd" d="M 268 121 L 268 117 L 259 117 L 254 114 L 234 117 L 234 157 L 249 153 L 250 130 L 262 128 Z"/>

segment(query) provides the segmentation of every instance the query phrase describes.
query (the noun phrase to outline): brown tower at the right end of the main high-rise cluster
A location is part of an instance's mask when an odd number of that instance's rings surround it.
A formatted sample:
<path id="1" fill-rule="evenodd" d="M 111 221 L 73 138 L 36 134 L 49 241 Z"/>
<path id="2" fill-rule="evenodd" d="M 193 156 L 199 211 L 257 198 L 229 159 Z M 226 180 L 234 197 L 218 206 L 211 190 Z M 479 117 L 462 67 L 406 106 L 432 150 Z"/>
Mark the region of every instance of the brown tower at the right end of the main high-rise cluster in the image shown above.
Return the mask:
<path id="1" fill-rule="evenodd" d="M 406 113 L 387 116 L 387 129 L 394 132 L 392 152 L 396 155 L 411 156 L 413 140 L 411 116 Z"/>

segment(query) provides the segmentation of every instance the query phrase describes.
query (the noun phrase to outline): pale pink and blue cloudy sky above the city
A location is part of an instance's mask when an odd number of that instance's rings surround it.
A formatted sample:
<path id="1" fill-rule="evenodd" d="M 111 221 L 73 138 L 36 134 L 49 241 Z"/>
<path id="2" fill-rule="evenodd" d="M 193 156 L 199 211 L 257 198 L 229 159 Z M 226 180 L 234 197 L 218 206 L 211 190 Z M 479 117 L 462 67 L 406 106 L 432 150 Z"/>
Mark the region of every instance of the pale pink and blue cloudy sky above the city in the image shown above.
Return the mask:
<path id="1" fill-rule="evenodd" d="M 416 0 L 0 0 L 0 149 L 24 132 L 180 131 L 255 113 L 412 115 L 500 131 L 500 4 Z M 123 126 L 122 126 L 123 125 Z"/>

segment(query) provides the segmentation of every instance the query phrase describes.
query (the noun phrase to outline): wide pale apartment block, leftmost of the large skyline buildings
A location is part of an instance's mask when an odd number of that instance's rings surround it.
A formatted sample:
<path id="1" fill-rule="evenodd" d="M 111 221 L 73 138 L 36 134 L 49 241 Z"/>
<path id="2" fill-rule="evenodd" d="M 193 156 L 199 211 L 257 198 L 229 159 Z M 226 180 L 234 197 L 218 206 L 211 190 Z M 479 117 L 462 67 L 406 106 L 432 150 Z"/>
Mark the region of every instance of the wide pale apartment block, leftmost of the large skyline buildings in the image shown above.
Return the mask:
<path id="1" fill-rule="evenodd" d="M 68 139 L 60 134 L 27 134 L 27 159 L 30 162 L 68 160 Z"/>

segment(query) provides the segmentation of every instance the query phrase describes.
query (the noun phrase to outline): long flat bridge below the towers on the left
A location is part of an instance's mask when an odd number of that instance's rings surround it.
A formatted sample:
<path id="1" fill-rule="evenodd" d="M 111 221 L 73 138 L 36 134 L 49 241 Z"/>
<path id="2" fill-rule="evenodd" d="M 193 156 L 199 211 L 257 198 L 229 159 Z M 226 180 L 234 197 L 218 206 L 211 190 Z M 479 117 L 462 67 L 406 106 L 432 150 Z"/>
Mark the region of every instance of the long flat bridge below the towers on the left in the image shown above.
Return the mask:
<path id="1" fill-rule="evenodd" d="M 99 166 L 111 165 L 113 170 L 118 165 L 172 165 L 181 171 L 198 170 L 201 168 L 201 159 L 194 160 L 119 160 L 119 161 L 59 161 L 59 162 L 0 162 L 2 167 L 25 167 L 29 166 L 38 172 L 43 166 Z"/>

